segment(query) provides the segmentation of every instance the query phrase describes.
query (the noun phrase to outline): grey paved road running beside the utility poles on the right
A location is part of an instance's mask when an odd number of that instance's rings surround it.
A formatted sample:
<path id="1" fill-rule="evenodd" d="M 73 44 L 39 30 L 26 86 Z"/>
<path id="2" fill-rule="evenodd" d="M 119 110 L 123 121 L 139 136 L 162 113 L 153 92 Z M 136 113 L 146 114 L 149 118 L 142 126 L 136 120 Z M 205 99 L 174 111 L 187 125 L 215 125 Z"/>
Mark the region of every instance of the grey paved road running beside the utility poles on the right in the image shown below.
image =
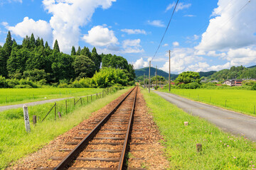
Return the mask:
<path id="1" fill-rule="evenodd" d="M 174 103 L 178 108 L 187 113 L 205 118 L 210 123 L 217 125 L 222 130 L 235 135 L 245 135 L 250 140 L 256 141 L 256 118 L 250 115 L 243 115 L 223 108 L 191 101 L 174 94 L 154 91 L 159 96 Z"/>

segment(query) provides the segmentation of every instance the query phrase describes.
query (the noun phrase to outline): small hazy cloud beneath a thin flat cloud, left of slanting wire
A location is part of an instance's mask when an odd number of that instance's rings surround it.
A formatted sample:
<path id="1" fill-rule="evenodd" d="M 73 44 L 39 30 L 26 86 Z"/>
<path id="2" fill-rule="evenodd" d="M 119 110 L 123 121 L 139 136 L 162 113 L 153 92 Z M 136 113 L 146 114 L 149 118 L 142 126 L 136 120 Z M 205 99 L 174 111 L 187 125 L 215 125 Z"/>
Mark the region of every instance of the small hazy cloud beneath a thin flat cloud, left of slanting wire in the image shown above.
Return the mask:
<path id="1" fill-rule="evenodd" d="M 122 51 L 123 53 L 140 53 L 144 52 L 142 45 L 140 45 L 141 40 L 136 39 L 136 40 L 124 40 L 122 42 L 122 47 L 124 50 Z"/>

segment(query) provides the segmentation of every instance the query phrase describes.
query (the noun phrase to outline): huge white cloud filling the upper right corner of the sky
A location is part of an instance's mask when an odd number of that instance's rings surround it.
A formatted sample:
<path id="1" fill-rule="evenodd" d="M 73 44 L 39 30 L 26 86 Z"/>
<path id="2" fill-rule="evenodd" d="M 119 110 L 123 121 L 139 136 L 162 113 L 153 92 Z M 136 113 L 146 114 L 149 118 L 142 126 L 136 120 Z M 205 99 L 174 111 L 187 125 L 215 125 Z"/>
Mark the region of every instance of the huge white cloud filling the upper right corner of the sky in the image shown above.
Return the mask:
<path id="1" fill-rule="evenodd" d="M 256 1 L 229 1 L 219 0 L 218 8 L 215 8 L 210 23 L 205 33 L 202 35 L 198 50 L 228 50 L 247 47 L 256 44 L 256 22 L 255 16 Z M 229 6 L 225 8 L 225 6 Z M 241 11 L 242 6 L 245 6 Z"/>

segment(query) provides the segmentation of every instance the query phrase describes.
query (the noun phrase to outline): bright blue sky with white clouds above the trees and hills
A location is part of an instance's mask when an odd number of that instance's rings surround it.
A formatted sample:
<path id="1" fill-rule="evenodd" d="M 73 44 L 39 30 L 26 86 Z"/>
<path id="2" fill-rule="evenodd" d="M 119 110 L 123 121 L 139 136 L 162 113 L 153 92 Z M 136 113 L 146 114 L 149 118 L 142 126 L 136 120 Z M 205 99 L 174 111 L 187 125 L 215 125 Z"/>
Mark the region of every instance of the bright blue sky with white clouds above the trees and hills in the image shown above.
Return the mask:
<path id="1" fill-rule="evenodd" d="M 72 45 L 149 65 L 176 1 L 0 0 L 0 45 L 6 33 L 21 44 L 34 35 L 70 54 Z M 256 64 L 256 2 L 181 0 L 153 67 L 171 72 L 210 71 Z"/>

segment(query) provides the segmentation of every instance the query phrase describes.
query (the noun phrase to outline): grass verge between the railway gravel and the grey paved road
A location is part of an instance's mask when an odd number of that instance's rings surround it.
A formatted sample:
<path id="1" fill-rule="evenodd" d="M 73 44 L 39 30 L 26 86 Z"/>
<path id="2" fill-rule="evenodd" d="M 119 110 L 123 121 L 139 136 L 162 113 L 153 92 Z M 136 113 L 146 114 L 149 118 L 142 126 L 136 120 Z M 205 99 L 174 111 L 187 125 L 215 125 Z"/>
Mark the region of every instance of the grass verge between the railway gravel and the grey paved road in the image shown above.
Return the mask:
<path id="1" fill-rule="evenodd" d="M 166 147 L 170 169 L 254 169 L 256 145 L 244 137 L 220 131 L 215 125 L 183 112 L 154 92 L 142 90 Z M 189 125 L 184 126 L 185 121 Z M 196 152 L 196 144 L 203 145 Z"/>

